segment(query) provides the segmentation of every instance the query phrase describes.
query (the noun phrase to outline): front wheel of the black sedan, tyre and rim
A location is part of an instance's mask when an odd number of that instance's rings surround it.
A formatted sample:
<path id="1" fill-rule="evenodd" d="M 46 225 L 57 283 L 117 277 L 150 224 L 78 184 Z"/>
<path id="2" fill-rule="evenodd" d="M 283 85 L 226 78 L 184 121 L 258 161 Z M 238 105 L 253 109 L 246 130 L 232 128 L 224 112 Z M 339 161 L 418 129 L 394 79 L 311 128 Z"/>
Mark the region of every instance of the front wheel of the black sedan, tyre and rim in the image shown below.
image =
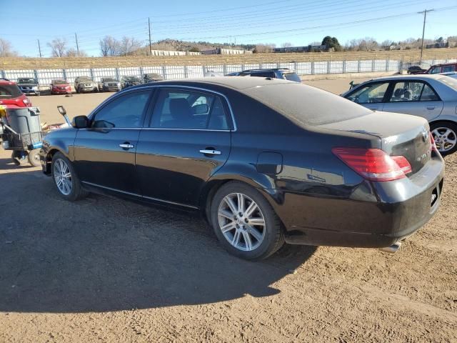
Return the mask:
<path id="1" fill-rule="evenodd" d="M 56 152 L 52 156 L 51 173 L 54 185 L 61 197 L 71 202 L 86 197 L 87 192 L 82 189 L 71 162 L 64 154 Z"/>

